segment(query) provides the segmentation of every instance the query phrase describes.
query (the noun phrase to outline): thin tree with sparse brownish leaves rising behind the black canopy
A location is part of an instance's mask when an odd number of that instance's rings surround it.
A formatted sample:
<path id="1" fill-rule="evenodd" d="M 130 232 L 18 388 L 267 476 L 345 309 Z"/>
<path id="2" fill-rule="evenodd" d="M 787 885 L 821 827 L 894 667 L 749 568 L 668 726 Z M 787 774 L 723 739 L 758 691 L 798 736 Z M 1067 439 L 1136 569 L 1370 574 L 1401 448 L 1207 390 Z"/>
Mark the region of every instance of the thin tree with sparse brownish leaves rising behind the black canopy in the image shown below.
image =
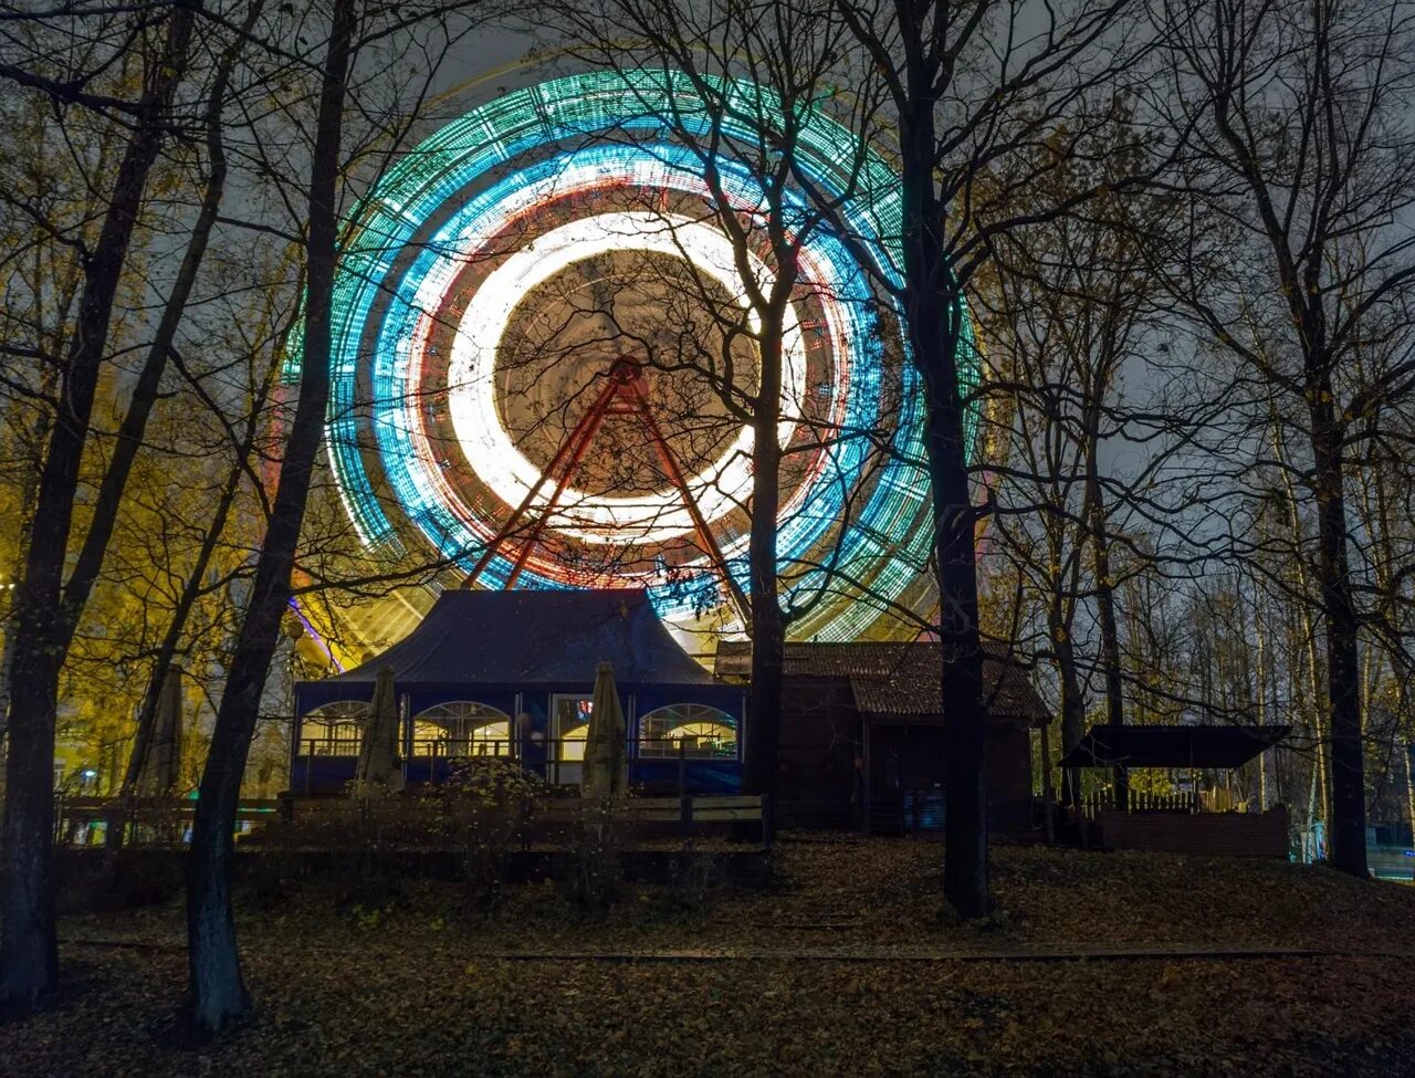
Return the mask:
<path id="1" fill-rule="evenodd" d="M 1034 201 L 1043 219 L 993 239 L 993 265 L 976 287 L 989 341 L 985 388 L 1015 402 L 1010 453 L 990 468 L 996 542 L 988 556 L 1010 566 L 1023 596 L 1036 596 L 1022 624 L 1036 620 L 1029 635 L 1044 639 L 1037 651 L 1054 668 L 1063 754 L 1081 741 L 1092 693 L 1104 720 L 1122 724 L 1126 682 L 1145 688 L 1145 673 L 1126 669 L 1119 594 L 1129 573 L 1160 573 L 1162 562 L 1153 546 L 1133 547 L 1132 529 L 1172 536 L 1165 573 L 1203 572 L 1208 547 L 1179 540 L 1208 512 L 1187 489 L 1207 463 L 1193 460 L 1191 443 L 1227 407 L 1221 392 L 1170 385 L 1170 355 L 1183 342 L 1167 325 L 1153 263 L 1174 246 L 1173 205 L 1131 187 L 1159 154 L 1139 150 L 1132 109 L 1124 100 L 1114 109 L 1114 127 L 1085 154 L 1017 199 L 1015 212 Z M 1099 153 L 1102 144 L 1122 149 Z M 1082 191 L 1095 194 L 1065 214 L 1046 212 Z M 1078 781 L 1070 771 L 1063 782 L 1073 806 Z"/>

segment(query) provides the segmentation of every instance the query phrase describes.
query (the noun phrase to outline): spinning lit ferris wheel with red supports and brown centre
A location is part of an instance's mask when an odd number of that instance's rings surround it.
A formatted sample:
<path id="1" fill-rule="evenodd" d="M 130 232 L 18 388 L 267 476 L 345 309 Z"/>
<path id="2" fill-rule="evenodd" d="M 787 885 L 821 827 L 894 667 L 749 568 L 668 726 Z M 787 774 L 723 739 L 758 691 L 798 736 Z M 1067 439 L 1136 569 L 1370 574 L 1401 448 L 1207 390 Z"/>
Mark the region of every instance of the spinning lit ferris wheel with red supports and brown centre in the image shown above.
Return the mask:
<path id="1" fill-rule="evenodd" d="M 777 108 L 722 88 L 750 105 L 734 115 Z M 560 78 L 375 185 L 341 255 L 325 431 L 366 546 L 441 560 L 444 587 L 645 587 L 671 624 L 741 628 L 760 376 L 743 272 L 768 287 L 775 267 L 719 226 L 702 144 L 674 137 L 695 123 L 674 72 Z M 815 600 L 792 635 L 856 639 L 931 603 L 923 400 L 882 287 L 899 185 L 821 113 L 798 158 L 845 235 L 802 229 L 782 320 L 780 572 Z M 730 150 L 713 166 L 750 229 L 760 180 Z M 972 357 L 969 330 L 968 378 Z"/>

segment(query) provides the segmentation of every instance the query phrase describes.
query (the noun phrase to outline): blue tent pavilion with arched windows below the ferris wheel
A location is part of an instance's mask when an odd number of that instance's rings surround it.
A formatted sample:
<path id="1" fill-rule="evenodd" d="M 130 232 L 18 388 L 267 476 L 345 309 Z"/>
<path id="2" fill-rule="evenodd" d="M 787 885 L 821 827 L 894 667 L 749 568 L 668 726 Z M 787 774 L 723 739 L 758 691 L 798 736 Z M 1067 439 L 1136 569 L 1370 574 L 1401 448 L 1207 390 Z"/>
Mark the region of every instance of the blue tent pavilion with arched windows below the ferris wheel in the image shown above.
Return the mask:
<path id="1" fill-rule="evenodd" d="M 614 668 L 630 782 L 734 792 L 746 697 L 685 652 L 642 590 L 443 593 L 406 638 L 355 669 L 294 686 L 294 792 L 354 778 L 374 683 L 393 671 L 409 784 L 478 757 L 552 785 L 580 779 L 594 672 Z"/>

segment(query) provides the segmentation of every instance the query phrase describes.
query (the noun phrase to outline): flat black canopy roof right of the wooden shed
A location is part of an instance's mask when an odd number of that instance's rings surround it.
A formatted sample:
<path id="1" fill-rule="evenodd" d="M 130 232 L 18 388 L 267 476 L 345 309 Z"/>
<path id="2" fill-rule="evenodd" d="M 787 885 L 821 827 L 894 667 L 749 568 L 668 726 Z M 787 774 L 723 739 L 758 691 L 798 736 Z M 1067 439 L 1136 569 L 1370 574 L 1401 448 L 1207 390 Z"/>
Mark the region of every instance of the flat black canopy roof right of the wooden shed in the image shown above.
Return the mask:
<path id="1" fill-rule="evenodd" d="M 1092 726 L 1063 767 L 1242 767 L 1290 726 Z"/>

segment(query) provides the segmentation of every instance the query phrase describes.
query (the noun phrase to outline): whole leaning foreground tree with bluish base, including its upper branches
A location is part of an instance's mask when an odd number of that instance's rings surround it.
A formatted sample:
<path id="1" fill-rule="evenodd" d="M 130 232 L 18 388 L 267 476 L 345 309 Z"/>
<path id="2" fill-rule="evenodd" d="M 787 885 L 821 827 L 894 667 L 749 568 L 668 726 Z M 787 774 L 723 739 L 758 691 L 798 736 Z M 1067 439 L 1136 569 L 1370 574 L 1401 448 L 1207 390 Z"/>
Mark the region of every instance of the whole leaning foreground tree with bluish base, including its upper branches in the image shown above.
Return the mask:
<path id="1" fill-rule="evenodd" d="M 464 8 L 471 11 L 470 17 L 464 17 Z M 282 240 L 294 240 L 304 284 L 303 337 L 297 399 L 293 407 L 279 409 L 280 444 L 262 447 L 272 453 L 279 478 L 273 495 L 262 492 L 265 531 L 243 589 L 239 628 L 226 662 L 192 826 L 187 871 L 190 1016 L 198 1030 L 208 1033 L 224 1028 L 250 1007 L 231 903 L 236 805 L 290 598 L 297 587 L 308 590 L 320 583 L 311 583 L 308 574 L 297 570 L 297 555 L 311 519 L 310 492 L 330 412 L 341 208 L 350 205 L 351 219 L 357 219 L 354 192 L 359 177 L 368 168 L 383 167 L 403 149 L 409 130 L 426 115 L 429 85 L 447 51 L 483 18 L 480 7 L 437 0 L 416 6 L 333 0 L 327 13 L 308 13 L 297 33 L 301 41 L 303 34 L 321 34 L 323 55 L 310 68 L 303 58 L 294 58 L 293 99 L 280 115 L 287 123 L 277 123 L 273 134 L 252 139 L 246 149 L 256 174 L 273 188 L 267 194 L 289 215 L 289 225 L 282 231 L 259 219 L 236 224 L 253 235 L 275 232 Z M 275 51 L 282 61 L 291 59 L 283 48 Z M 389 83 L 388 66 L 409 58 L 419 78 Z M 308 81 L 296 78 L 299 74 L 308 74 Z M 310 143 L 301 134 L 304 122 L 313 126 Z M 209 405 L 221 410 L 221 402 Z M 245 447 L 249 429 L 232 440 Z M 243 453 L 236 456 L 236 467 L 250 467 Z M 337 566 L 338 560 L 330 559 L 324 567 Z M 375 583 L 388 587 L 391 581 L 426 572 L 426 566 L 417 566 L 410 572 L 381 573 Z M 359 581 L 334 583 L 350 589 Z"/>

